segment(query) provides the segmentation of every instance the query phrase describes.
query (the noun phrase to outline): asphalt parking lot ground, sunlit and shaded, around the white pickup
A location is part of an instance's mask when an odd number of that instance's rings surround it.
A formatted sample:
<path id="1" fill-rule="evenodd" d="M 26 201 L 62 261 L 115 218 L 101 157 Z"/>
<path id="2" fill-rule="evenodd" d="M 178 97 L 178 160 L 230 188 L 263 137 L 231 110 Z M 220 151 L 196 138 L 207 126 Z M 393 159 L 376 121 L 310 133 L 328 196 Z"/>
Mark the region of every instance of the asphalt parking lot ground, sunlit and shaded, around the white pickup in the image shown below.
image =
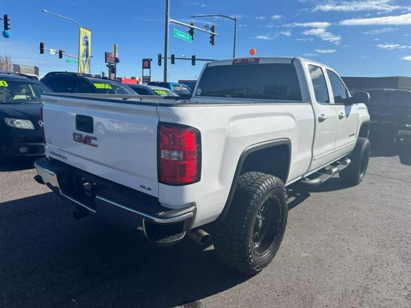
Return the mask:
<path id="1" fill-rule="evenodd" d="M 189 239 L 159 248 L 76 221 L 32 160 L 2 164 L 0 306 L 411 307 L 411 166 L 383 146 L 372 156 L 359 186 L 336 177 L 291 198 L 282 246 L 255 277 Z"/>

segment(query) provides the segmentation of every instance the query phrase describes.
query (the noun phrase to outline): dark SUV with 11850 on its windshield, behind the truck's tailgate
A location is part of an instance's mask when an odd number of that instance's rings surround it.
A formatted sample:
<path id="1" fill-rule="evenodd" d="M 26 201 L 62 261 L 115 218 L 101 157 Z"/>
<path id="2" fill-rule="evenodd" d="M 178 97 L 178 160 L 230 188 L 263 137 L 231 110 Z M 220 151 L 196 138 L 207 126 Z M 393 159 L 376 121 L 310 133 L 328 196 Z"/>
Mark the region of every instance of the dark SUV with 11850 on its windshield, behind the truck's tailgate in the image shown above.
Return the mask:
<path id="1" fill-rule="evenodd" d="M 127 85 L 99 75 L 50 72 L 41 81 L 59 93 L 136 94 Z"/>

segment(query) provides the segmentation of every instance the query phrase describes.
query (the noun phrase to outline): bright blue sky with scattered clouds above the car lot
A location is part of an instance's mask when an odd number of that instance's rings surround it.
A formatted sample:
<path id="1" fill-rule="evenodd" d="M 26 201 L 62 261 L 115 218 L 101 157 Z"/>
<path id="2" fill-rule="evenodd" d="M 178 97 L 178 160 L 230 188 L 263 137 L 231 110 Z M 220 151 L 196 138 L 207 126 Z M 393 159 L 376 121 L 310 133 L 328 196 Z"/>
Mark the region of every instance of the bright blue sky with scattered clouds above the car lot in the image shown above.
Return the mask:
<path id="1" fill-rule="evenodd" d="M 107 71 L 104 52 L 119 45 L 118 76 L 141 76 L 141 59 L 152 62 L 152 80 L 161 80 L 163 67 L 157 54 L 164 52 L 164 0 L 2 0 L 0 14 L 9 14 L 9 39 L 0 39 L 0 55 L 16 63 L 37 65 L 48 71 L 76 71 L 76 64 L 58 56 L 39 55 L 46 48 L 77 54 L 78 28 L 74 23 L 42 13 L 47 9 L 69 16 L 92 31 L 92 73 Z M 257 56 L 302 56 L 323 62 L 343 76 L 411 76 L 410 0 L 171 0 L 171 17 L 191 21 L 195 14 L 237 16 L 237 56 L 255 48 Z M 195 25 L 215 24 L 216 45 L 209 35 L 195 32 L 187 43 L 170 36 L 170 53 L 176 57 L 224 59 L 232 56 L 233 22 L 203 18 Z M 170 25 L 187 31 L 185 27 Z M 177 61 L 169 65 L 169 80 L 195 79 L 203 66 Z M 247 78 L 247 76 L 245 76 Z"/>

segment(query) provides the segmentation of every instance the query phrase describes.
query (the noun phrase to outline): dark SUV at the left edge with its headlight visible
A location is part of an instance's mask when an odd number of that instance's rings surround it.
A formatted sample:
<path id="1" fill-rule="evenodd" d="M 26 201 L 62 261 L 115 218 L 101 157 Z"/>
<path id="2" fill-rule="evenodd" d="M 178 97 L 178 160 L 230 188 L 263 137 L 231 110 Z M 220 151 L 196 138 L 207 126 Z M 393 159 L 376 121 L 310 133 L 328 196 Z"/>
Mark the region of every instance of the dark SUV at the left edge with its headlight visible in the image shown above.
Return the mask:
<path id="1" fill-rule="evenodd" d="M 0 161 L 44 154 L 41 94 L 53 92 L 33 77 L 0 73 Z"/>

